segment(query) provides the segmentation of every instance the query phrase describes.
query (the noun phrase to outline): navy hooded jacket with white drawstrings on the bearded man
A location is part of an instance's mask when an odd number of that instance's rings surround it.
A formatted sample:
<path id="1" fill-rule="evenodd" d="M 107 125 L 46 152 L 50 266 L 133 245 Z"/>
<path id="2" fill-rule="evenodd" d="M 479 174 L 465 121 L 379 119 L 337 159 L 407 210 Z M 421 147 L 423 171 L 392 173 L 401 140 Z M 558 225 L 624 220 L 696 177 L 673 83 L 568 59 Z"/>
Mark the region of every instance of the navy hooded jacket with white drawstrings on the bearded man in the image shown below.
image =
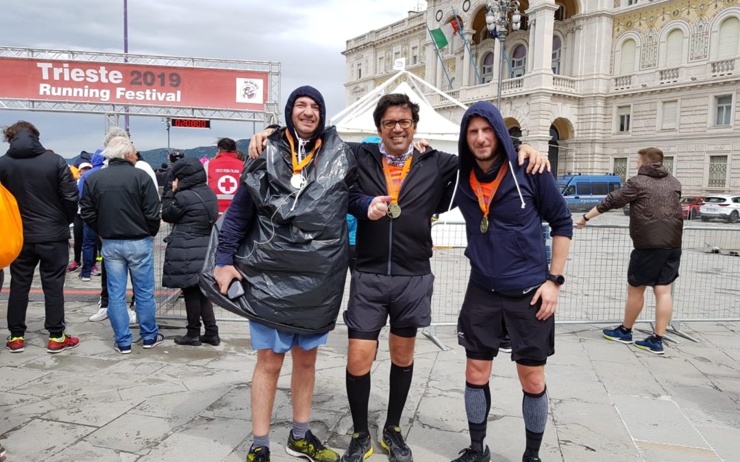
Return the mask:
<path id="1" fill-rule="evenodd" d="M 494 128 L 499 152 L 505 153 L 509 171 L 502 179 L 488 212 L 488 231 L 480 231 L 483 212 L 470 185 L 476 162 L 468 148 L 467 132 L 471 118 L 488 120 Z M 527 174 L 527 163 L 517 165 L 499 110 L 487 101 L 474 103 L 460 123 L 460 180 L 455 203 L 465 217 L 468 248 L 465 257 L 471 264 L 471 281 L 490 291 L 514 292 L 545 282 L 549 268 L 542 239 L 542 220 L 548 222 L 552 236 L 573 237 L 573 220 L 553 175 Z"/>

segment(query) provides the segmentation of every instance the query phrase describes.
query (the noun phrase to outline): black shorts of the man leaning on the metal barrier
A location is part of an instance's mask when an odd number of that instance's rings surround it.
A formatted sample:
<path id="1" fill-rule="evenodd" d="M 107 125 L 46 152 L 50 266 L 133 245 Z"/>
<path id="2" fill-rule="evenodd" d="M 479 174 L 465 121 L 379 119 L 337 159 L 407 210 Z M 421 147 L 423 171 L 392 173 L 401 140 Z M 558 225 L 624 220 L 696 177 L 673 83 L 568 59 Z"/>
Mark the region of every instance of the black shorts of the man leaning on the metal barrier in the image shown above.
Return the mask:
<path id="1" fill-rule="evenodd" d="M 641 285 L 669 285 L 679 277 L 680 248 L 636 248 L 630 255 L 627 282 Z"/>

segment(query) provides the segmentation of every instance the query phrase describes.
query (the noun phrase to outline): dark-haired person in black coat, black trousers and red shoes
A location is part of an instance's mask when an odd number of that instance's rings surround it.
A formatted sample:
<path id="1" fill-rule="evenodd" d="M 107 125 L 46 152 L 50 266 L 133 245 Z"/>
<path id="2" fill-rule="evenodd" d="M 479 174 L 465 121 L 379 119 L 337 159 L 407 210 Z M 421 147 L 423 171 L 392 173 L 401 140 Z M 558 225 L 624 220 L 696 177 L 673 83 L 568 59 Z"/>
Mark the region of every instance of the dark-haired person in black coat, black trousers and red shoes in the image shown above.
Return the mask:
<path id="1" fill-rule="evenodd" d="M 37 266 L 44 288 L 47 351 L 59 353 L 79 342 L 64 333 L 63 291 L 70 258 L 70 223 L 77 214 L 77 185 L 64 158 L 41 146 L 38 136 L 38 129 L 23 120 L 3 130 L 10 149 L 0 157 L 0 183 L 16 197 L 23 222 L 23 248 L 10 265 L 7 299 L 10 336 L 5 345 L 13 353 L 25 347 L 28 293 Z"/>

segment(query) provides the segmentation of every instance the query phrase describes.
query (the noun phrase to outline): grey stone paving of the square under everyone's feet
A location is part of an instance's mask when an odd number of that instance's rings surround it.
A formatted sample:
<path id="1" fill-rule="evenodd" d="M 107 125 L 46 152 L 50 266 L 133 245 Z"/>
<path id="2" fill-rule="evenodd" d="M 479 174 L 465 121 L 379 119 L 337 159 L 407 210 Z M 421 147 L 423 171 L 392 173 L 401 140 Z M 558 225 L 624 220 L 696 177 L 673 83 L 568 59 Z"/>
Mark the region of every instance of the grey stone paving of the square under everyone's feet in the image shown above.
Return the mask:
<path id="1" fill-rule="evenodd" d="M 0 323 L 4 319 L 0 306 Z M 218 347 L 175 345 L 163 330 L 153 350 L 112 349 L 110 323 L 89 322 L 95 307 L 67 304 L 79 347 L 46 353 L 43 305 L 32 302 L 24 353 L 0 352 L 0 441 L 13 461 L 243 461 L 252 441 L 250 381 L 256 355 L 243 322 L 221 323 Z M 184 321 L 168 320 L 170 325 Z M 733 461 L 740 453 L 740 324 L 682 325 L 701 343 L 670 344 L 664 357 L 608 342 L 590 325 L 556 327 L 548 361 L 550 421 L 542 458 L 553 461 Z M 0 324 L 0 329 L 4 325 Z M 439 327 L 443 351 L 417 339 L 414 381 L 402 427 L 418 462 L 447 462 L 468 446 L 465 352 L 454 328 Z M 377 434 L 388 402 L 388 333 L 373 366 L 369 422 Z M 346 329 L 320 350 L 312 431 L 342 452 L 351 415 L 344 390 Z M 278 380 L 272 461 L 284 452 L 292 407 L 288 356 Z M 487 443 L 493 460 L 521 458 L 522 391 L 515 364 L 494 361 Z M 368 462 L 387 461 L 374 440 Z"/>

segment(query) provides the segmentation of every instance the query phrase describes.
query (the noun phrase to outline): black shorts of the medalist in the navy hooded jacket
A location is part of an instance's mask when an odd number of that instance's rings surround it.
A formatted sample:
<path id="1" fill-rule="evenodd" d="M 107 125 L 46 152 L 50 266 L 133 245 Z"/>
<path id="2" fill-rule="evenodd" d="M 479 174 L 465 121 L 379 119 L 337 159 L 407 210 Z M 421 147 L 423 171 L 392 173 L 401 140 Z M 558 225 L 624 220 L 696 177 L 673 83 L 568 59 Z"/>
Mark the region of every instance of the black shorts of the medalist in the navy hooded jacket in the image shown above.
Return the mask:
<path id="1" fill-rule="evenodd" d="M 504 296 L 468 282 L 457 318 L 457 343 L 470 359 L 491 360 L 508 333 L 511 361 L 527 366 L 547 362 L 555 353 L 555 316 L 536 319 L 542 301 L 530 305 L 536 288 L 522 297 Z"/>

